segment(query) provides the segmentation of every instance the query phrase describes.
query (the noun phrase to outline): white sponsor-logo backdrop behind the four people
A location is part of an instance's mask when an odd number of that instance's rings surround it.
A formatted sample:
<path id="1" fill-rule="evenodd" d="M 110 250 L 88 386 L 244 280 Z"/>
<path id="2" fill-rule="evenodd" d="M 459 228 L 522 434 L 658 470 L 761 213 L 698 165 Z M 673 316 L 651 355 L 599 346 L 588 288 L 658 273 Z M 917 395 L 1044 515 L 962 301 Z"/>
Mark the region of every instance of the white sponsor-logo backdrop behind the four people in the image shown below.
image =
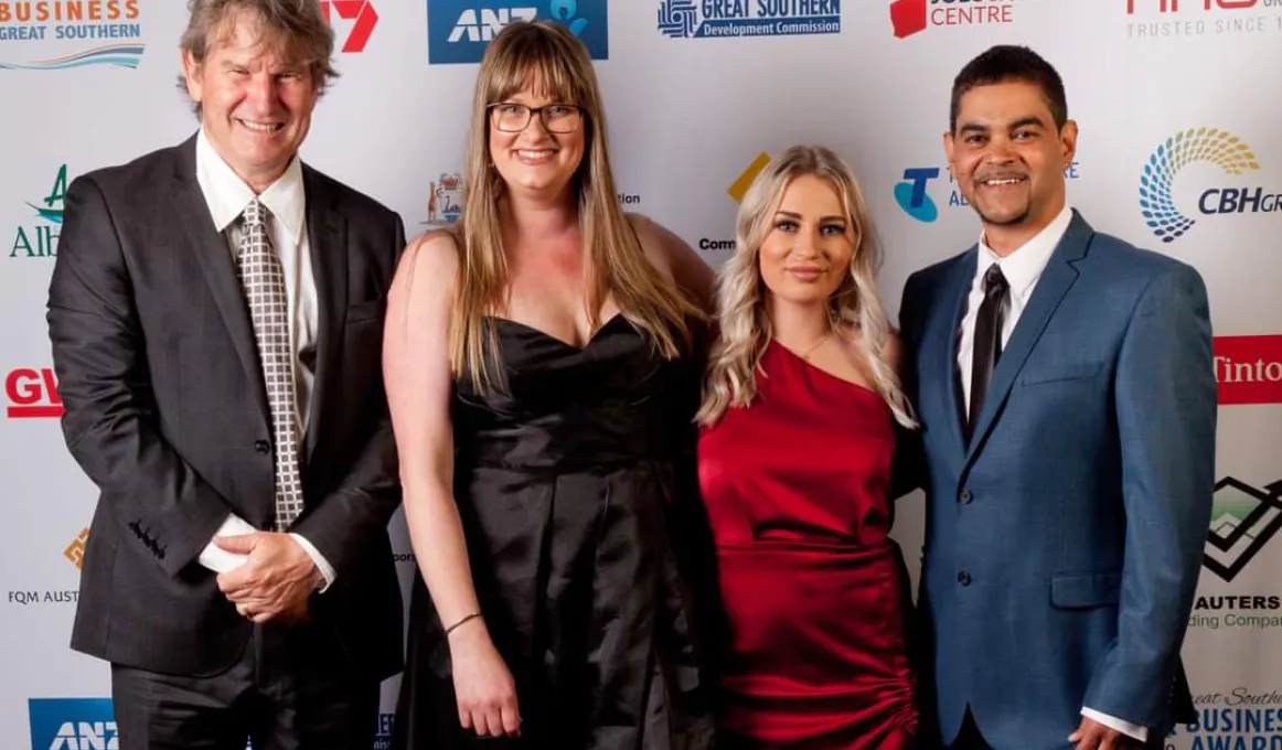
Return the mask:
<path id="1" fill-rule="evenodd" d="M 67 647 L 96 492 L 54 418 L 45 300 L 63 169 L 71 179 L 176 144 L 196 127 L 174 90 L 185 5 L 0 0 L 4 747 L 115 747 L 108 669 Z M 1185 649 L 1203 713 L 1200 726 L 1181 727 L 1170 746 L 1282 747 L 1282 679 L 1274 677 L 1282 668 L 1282 583 L 1273 576 L 1282 542 L 1270 542 L 1282 526 L 1282 264 L 1272 233 L 1282 194 L 1282 1 L 329 5 L 347 51 L 337 55 L 342 78 L 318 106 L 304 158 L 400 212 L 410 233 L 428 219 L 428 194 L 442 176 L 435 215 L 455 215 L 446 210 L 458 199 L 449 176 L 462 169 L 477 72 L 465 60 L 483 49 L 486 24 L 555 13 L 577 21 L 594 46 L 619 191 L 631 210 L 719 264 L 727 251 L 718 244 L 733 236 L 728 188 L 745 168 L 794 142 L 829 145 L 854 165 L 872 205 L 892 314 L 912 271 L 963 250 L 978 233 L 944 164 L 953 76 L 991 44 L 1028 44 L 1044 54 L 1063 74 L 1069 114 L 1081 123 L 1072 204 L 1101 231 L 1192 263 L 1210 291 L 1222 487 Z M 772 12 L 785 18 L 764 15 Z M 1141 183 L 1146 165 L 1149 182 Z M 923 168 L 938 168 L 938 177 L 913 205 L 915 178 L 905 179 L 905 171 Z M 1164 242 L 1145 210 L 1158 228 L 1185 218 L 1194 224 Z M 895 532 L 914 577 L 920 514 L 920 496 L 906 499 Z M 400 518 L 395 523 L 408 553 Z M 412 565 L 404 555 L 406 582 Z M 396 679 L 386 685 L 385 712 L 395 687 Z M 379 745 L 388 728 L 385 715 Z"/>

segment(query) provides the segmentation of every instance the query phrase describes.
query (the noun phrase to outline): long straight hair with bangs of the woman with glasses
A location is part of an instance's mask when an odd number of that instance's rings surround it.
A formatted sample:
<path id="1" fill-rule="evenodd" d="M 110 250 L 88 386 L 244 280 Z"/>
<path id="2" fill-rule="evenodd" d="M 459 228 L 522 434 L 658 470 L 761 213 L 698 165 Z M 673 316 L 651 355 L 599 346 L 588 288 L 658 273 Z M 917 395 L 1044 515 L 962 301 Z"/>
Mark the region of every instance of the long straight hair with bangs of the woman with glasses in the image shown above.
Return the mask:
<path id="1" fill-rule="evenodd" d="M 463 177 L 459 286 L 450 323 L 450 367 L 468 372 L 477 390 L 503 377 L 494 328 L 485 318 L 503 305 L 508 262 L 503 247 L 500 201 L 505 183 L 490 162 L 488 105 L 537 81 L 538 94 L 582 108 L 583 162 L 574 174 L 583 256 L 592 273 L 587 312 L 592 329 L 600 308 L 614 296 L 623 317 L 649 335 L 663 356 L 678 356 L 690 342 L 687 319 L 700 312 L 664 278 L 641 250 L 615 197 L 608 154 L 605 112 L 587 47 L 565 27 L 551 22 L 514 22 L 495 35 L 481 60 L 472 104 Z"/>

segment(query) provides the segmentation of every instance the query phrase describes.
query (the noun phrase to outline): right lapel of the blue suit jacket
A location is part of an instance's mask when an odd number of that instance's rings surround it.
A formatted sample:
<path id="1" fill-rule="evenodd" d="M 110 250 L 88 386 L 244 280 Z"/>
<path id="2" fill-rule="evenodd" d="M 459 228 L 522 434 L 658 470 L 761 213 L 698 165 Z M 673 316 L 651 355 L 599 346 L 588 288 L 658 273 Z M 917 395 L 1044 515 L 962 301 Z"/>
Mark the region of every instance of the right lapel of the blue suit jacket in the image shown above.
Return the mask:
<path id="1" fill-rule="evenodd" d="M 1090 245 L 1092 235 L 1094 229 L 1074 210 L 1068 231 L 1046 263 L 1046 269 L 1042 271 L 1041 278 L 1033 288 L 1028 306 L 1024 308 L 1019 322 L 1015 323 L 1015 328 L 1010 333 L 1010 341 L 1006 342 L 1006 347 L 1001 353 L 1001 359 L 992 372 L 988 396 L 983 401 L 983 412 L 979 414 L 979 422 L 976 424 L 974 435 L 967 451 L 968 468 L 974 462 L 988 432 L 992 429 L 997 413 L 1005 406 L 1006 396 L 1010 395 L 1010 387 L 1015 382 L 1015 376 L 1023 369 L 1028 355 L 1032 354 L 1033 345 L 1041 338 L 1042 331 L 1046 329 L 1046 323 L 1050 322 L 1064 295 L 1068 294 L 1073 282 L 1077 281 L 1078 272 L 1073 264 L 1086 255 L 1086 247 Z"/>

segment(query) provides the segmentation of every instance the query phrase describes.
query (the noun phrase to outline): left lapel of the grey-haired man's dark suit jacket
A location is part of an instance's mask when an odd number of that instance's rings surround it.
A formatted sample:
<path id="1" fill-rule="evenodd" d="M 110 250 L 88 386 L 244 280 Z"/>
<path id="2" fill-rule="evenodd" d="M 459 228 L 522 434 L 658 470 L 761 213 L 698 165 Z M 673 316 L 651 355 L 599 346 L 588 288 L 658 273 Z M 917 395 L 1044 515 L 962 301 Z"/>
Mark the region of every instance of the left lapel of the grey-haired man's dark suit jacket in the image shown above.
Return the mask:
<path id="1" fill-rule="evenodd" d="M 209 283 L 209 291 L 213 292 L 218 312 L 227 324 L 236 354 L 245 367 L 245 376 L 253 386 L 254 399 L 263 414 L 264 423 L 269 423 L 267 388 L 263 385 L 263 369 L 258 360 L 258 345 L 254 341 L 254 327 L 249 318 L 245 291 L 236 276 L 236 265 L 227 247 L 227 240 L 214 227 L 214 219 L 209 214 L 209 204 L 196 181 L 195 136 L 178 146 L 177 154 L 174 188 L 171 192 L 174 215 L 182 223 L 187 242 L 200 262 L 205 282 Z"/>

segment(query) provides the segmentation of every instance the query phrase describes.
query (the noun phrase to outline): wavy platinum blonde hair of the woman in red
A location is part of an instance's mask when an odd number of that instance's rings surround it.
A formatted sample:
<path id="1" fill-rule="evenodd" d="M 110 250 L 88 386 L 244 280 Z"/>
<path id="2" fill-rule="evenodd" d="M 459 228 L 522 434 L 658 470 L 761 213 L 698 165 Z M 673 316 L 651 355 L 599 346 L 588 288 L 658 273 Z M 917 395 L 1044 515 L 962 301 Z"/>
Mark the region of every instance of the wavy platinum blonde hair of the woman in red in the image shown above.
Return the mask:
<path id="1" fill-rule="evenodd" d="M 873 236 L 868 205 L 850 167 L 823 146 L 792 146 L 773 159 L 753 181 L 740 204 L 735 255 L 718 272 L 717 318 L 720 335 L 709 356 L 696 421 L 704 426 L 713 424 L 727 409 L 747 406 L 756 397 L 756 372 L 773 335 L 765 312 L 768 290 L 760 271 L 762 242 L 770 231 L 783 191 L 803 176 L 815 176 L 833 186 L 850 214 L 855 235 L 850 273 L 832 294 L 828 314 L 836 324 L 859 329 L 876 390 L 896 422 L 915 427 L 913 409 L 885 356 L 890 322 L 877 296 L 876 273 L 881 251 Z"/>

